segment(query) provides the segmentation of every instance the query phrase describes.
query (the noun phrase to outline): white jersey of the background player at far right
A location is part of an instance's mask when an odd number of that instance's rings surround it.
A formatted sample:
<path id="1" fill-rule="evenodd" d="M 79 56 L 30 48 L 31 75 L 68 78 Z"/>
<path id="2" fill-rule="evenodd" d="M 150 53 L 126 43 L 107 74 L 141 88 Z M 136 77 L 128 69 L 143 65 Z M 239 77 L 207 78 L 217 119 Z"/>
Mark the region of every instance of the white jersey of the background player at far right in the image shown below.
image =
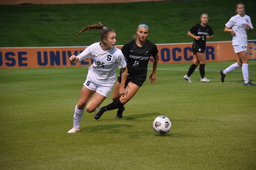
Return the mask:
<path id="1" fill-rule="evenodd" d="M 247 46 L 247 28 L 244 26 L 245 24 L 248 24 L 253 29 L 251 18 L 247 14 L 243 17 L 236 14 L 225 24 L 225 26 L 232 28 L 236 32 L 236 36 L 232 38 L 232 45 Z"/>

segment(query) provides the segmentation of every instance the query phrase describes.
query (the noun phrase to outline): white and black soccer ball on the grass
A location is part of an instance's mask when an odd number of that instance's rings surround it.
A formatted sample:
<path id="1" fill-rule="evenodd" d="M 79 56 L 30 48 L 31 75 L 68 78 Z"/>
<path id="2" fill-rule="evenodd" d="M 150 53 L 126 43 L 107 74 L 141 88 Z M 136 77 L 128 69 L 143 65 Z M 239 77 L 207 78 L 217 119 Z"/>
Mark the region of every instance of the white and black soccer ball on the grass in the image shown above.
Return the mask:
<path id="1" fill-rule="evenodd" d="M 166 116 L 158 116 L 154 119 L 154 131 L 160 134 L 166 134 L 171 130 L 172 122 Z"/>

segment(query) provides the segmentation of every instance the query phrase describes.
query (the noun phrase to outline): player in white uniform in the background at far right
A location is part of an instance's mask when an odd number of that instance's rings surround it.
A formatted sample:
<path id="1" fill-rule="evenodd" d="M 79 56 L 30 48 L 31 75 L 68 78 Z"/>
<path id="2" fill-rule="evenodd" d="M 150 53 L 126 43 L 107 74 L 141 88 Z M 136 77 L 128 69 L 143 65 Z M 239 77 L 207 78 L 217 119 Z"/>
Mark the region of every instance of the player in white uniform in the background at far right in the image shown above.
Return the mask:
<path id="1" fill-rule="evenodd" d="M 226 23 L 224 31 L 230 32 L 232 35 L 232 45 L 235 53 L 238 55 L 237 62 L 230 65 L 226 69 L 220 71 L 221 82 L 224 82 L 226 74 L 241 67 L 244 80 L 244 86 L 255 86 L 249 82 L 248 59 L 247 59 L 247 31 L 253 30 L 251 18 L 245 14 L 245 6 L 243 3 L 236 4 L 236 15 L 231 17 Z"/>

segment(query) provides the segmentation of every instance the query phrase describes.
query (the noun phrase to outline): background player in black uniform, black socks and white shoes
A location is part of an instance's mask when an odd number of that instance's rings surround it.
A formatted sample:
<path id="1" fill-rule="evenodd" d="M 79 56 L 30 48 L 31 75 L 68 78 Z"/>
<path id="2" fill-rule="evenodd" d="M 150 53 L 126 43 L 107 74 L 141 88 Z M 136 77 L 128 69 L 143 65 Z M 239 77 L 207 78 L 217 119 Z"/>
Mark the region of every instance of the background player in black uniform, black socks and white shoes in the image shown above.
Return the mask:
<path id="1" fill-rule="evenodd" d="M 201 82 L 211 82 L 210 79 L 205 77 L 205 65 L 206 65 L 206 56 L 205 56 L 205 48 L 207 39 L 213 37 L 213 31 L 211 26 L 207 25 L 208 22 L 208 14 L 201 14 L 201 23 L 196 24 L 190 28 L 188 35 L 189 37 L 193 37 L 193 54 L 194 61 L 193 64 L 190 65 L 188 73 L 183 77 L 188 82 L 192 82 L 190 76 L 195 71 L 195 68 L 200 65 L 199 71 L 201 74 Z"/>

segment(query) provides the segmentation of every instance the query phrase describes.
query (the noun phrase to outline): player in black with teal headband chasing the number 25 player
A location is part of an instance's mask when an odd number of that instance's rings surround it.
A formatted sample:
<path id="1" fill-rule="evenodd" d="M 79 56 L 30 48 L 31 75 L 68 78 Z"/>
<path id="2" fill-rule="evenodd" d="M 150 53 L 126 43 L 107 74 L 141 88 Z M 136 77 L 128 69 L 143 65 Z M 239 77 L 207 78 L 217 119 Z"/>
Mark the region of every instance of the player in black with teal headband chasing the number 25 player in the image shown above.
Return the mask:
<path id="1" fill-rule="evenodd" d="M 157 66 L 158 49 L 153 42 L 149 42 L 147 37 L 149 33 L 149 26 L 147 23 L 140 23 L 137 26 L 137 34 L 130 42 L 127 42 L 122 48 L 122 52 L 126 58 L 128 76 L 125 83 L 125 94 L 119 95 L 119 87 L 121 77 L 116 82 L 113 91 L 113 102 L 109 105 L 103 106 L 94 116 L 95 119 L 101 118 L 105 111 L 118 109 L 116 118 L 123 117 L 124 105 L 135 95 L 143 82 L 147 79 L 148 60 L 152 56 L 153 70 L 149 75 L 149 80 L 154 83 L 156 79 L 155 71 Z"/>

